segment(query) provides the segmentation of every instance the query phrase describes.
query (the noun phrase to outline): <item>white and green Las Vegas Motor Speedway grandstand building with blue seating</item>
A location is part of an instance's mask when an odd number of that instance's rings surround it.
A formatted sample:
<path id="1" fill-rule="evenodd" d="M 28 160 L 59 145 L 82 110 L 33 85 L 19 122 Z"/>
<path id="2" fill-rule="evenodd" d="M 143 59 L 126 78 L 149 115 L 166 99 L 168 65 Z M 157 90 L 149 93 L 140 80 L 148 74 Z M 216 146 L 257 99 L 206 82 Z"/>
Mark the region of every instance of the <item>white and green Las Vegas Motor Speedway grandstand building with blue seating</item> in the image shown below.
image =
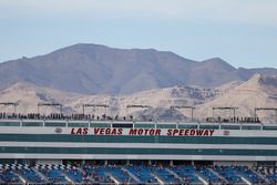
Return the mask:
<path id="1" fill-rule="evenodd" d="M 17 104 L 4 105 L 14 113 L 0 113 L 0 184 L 277 183 L 277 123 L 256 116 L 277 109 L 238 117 L 237 107 L 213 107 L 234 115 L 199 121 L 184 106 L 189 121 L 162 122 L 84 112 L 22 115 Z"/>

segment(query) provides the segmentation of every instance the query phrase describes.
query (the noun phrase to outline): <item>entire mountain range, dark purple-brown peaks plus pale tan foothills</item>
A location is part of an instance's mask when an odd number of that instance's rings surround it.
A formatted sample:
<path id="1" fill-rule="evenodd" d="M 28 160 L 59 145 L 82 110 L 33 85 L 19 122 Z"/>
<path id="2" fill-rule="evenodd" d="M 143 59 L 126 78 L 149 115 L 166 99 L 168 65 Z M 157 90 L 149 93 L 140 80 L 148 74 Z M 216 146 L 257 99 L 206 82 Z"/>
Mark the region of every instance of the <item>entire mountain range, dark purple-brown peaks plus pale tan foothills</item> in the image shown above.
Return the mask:
<path id="1" fill-rule="evenodd" d="M 154 49 L 112 49 L 75 44 L 45 55 L 0 63 L 0 103 L 17 102 L 18 113 L 84 113 L 114 117 L 135 115 L 166 121 L 194 116 L 233 116 L 216 106 L 236 106 L 237 116 L 254 116 L 255 107 L 277 107 L 277 70 L 235 69 L 219 58 L 193 61 Z M 109 109 L 83 104 L 106 104 Z M 127 109 L 151 105 L 151 109 Z M 0 112 L 14 112 L 1 104 Z M 273 111 L 259 111 L 264 122 L 275 121 Z"/>

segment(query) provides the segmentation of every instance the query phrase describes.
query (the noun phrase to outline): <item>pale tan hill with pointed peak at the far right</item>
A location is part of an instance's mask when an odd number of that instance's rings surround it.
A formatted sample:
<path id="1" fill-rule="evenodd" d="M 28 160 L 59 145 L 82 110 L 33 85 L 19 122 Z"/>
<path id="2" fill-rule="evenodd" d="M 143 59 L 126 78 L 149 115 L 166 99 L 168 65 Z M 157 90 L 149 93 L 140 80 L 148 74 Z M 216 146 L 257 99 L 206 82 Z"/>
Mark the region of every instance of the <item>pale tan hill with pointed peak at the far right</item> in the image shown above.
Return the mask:
<path id="1" fill-rule="evenodd" d="M 196 106 L 197 116 L 213 116 L 212 107 L 236 106 L 236 115 L 254 116 L 255 107 L 277 107 L 277 76 L 266 76 L 255 74 L 247 82 L 235 85 L 217 99 Z M 261 120 L 274 121 L 274 111 L 258 111 L 257 115 Z M 232 111 L 216 111 L 215 116 L 229 115 Z"/>

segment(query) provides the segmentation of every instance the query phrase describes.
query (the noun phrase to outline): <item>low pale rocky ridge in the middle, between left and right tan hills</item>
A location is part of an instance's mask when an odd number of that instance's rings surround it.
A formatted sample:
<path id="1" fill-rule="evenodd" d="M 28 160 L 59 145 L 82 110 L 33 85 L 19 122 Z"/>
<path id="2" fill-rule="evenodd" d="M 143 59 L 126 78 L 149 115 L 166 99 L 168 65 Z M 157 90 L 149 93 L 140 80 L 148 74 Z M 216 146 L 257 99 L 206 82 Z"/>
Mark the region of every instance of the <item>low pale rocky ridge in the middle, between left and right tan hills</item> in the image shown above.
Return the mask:
<path id="1" fill-rule="evenodd" d="M 127 95 L 85 95 L 71 102 L 69 106 L 81 107 L 82 104 L 107 104 L 107 113 L 111 115 L 126 115 L 132 112 L 145 109 L 126 109 L 127 105 L 150 105 L 151 110 L 156 107 L 170 109 L 172 105 L 196 105 L 203 104 L 218 96 L 220 92 L 214 89 L 203 89 L 196 86 L 173 86 L 166 89 L 155 89 L 142 91 Z M 88 109 L 92 111 L 92 109 Z M 94 110 L 95 111 L 95 110 Z M 99 110 L 101 111 L 101 110 Z M 103 112 L 103 110 L 102 110 Z"/>

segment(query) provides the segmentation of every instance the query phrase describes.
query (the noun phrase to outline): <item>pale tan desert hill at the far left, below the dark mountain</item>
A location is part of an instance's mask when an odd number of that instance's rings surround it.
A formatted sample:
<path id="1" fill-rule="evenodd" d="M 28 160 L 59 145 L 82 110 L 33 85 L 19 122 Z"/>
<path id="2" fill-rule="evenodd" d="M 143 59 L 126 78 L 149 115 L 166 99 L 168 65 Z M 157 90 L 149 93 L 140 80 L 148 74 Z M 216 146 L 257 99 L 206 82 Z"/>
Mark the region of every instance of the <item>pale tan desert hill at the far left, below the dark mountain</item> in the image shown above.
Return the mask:
<path id="1" fill-rule="evenodd" d="M 27 114 L 27 113 L 37 113 L 38 103 L 60 103 L 66 104 L 68 102 L 80 99 L 82 95 L 75 93 L 66 93 L 50 88 L 38 86 L 28 82 L 18 82 L 12 86 L 0 92 L 0 102 L 7 103 L 18 103 L 17 112 Z M 58 112 L 59 107 L 52 110 L 52 107 L 40 107 L 40 112 L 49 114 L 51 112 Z M 65 107 L 66 112 L 72 112 L 73 110 L 69 106 Z M 0 112 L 13 113 L 14 107 L 9 105 L 0 106 Z"/>

